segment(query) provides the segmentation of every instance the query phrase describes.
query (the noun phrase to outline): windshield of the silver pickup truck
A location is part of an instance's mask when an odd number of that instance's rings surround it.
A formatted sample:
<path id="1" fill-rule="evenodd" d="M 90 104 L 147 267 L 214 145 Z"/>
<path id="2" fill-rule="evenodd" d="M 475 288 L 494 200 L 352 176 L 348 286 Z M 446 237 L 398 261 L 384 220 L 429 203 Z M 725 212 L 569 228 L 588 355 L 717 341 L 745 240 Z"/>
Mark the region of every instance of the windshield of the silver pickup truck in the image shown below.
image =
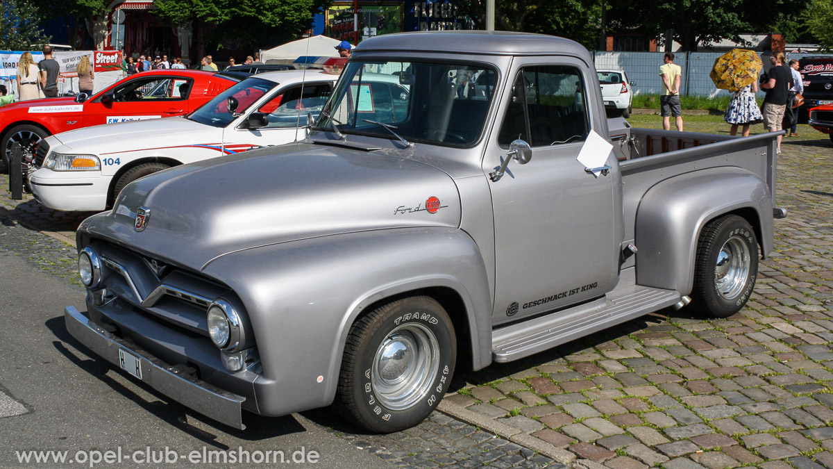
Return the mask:
<path id="1" fill-rule="evenodd" d="M 481 63 L 349 62 L 315 128 L 381 139 L 396 139 L 395 129 L 411 142 L 471 146 L 483 133 L 496 78 Z"/>

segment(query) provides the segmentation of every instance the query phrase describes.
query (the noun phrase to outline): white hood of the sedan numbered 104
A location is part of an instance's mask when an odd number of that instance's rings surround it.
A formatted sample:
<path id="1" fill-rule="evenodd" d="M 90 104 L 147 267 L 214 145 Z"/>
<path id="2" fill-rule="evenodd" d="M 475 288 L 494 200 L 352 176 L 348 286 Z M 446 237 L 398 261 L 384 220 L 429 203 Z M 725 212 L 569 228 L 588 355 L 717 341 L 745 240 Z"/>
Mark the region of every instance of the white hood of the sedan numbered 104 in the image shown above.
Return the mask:
<path id="1" fill-rule="evenodd" d="M 135 151 L 187 144 L 217 144 L 222 129 L 179 117 L 147 119 L 118 124 L 101 124 L 70 130 L 55 138 L 72 152 L 102 154 L 117 151 Z M 211 136 L 211 142 L 204 141 Z M 113 145 L 117 141 L 117 145 Z M 66 151 L 66 150 L 62 150 Z"/>

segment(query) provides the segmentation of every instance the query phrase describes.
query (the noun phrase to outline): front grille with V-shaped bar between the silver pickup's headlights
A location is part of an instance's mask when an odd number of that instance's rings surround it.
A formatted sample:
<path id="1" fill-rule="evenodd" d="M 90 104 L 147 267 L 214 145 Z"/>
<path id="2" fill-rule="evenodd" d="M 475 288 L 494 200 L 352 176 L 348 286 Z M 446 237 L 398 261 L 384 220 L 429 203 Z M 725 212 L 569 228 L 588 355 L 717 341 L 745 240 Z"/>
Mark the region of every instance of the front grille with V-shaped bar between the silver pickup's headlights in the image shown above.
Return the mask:
<path id="1" fill-rule="evenodd" d="M 200 335 L 208 334 L 208 306 L 230 293 L 224 285 L 130 250 L 105 243 L 94 243 L 92 249 L 102 260 L 107 298 L 130 305 L 137 314 L 152 315 Z M 165 268 L 154 270 L 158 265 Z"/>

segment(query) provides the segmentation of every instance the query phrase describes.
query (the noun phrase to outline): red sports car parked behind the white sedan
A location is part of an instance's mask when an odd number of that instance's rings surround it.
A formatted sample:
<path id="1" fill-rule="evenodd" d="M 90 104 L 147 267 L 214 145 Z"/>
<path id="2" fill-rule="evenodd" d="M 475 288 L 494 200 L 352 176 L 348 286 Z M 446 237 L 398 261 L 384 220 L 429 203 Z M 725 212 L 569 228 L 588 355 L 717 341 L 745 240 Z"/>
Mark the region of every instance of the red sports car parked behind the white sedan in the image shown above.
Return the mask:
<path id="1" fill-rule="evenodd" d="M 23 159 L 31 160 L 47 135 L 189 113 L 237 81 L 200 70 L 153 70 L 124 78 L 90 97 L 79 94 L 7 104 L 0 108 L 0 154 L 8 167 L 14 142 L 22 145 Z"/>

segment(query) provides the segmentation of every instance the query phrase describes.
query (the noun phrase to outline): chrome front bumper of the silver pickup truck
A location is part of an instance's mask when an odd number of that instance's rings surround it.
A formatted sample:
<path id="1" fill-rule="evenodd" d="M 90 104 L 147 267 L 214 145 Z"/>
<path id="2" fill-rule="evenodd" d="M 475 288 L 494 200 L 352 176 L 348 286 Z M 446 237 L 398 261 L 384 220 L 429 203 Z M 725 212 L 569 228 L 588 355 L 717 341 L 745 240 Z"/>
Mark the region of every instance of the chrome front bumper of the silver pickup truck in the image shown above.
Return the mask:
<path id="1" fill-rule="evenodd" d="M 242 402 L 246 401 L 245 397 L 222 391 L 207 382 L 187 376 L 137 348 L 136 345 L 128 345 L 126 341 L 103 330 L 73 306 L 64 308 L 63 317 L 67 323 L 67 330 L 73 337 L 113 365 L 119 366 L 118 350 L 125 350 L 139 357 L 142 381 L 153 389 L 227 426 L 239 430 L 246 428 L 242 423 Z"/>

